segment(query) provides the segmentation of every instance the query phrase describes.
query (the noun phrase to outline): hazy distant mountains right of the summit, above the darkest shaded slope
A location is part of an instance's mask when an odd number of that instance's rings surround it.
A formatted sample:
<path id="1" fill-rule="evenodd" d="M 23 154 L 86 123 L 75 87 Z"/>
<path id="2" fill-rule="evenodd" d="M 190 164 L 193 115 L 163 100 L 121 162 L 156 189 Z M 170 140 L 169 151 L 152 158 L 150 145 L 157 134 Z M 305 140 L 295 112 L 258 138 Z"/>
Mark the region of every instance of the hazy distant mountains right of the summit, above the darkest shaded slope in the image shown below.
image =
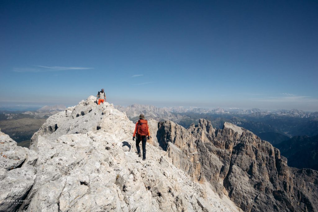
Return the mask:
<path id="1" fill-rule="evenodd" d="M 157 108 L 151 105 L 133 104 L 116 106 L 125 112 L 129 119 L 135 121 L 139 114 L 157 121 L 171 120 L 183 127 L 198 123 L 200 118 L 208 119 L 213 126 L 220 129 L 224 122 L 244 127 L 273 144 L 296 135 L 314 136 L 318 134 L 318 112 L 301 110 L 259 110 L 242 109 L 204 109 L 194 107 Z M 284 137 L 286 136 L 286 137 Z"/>

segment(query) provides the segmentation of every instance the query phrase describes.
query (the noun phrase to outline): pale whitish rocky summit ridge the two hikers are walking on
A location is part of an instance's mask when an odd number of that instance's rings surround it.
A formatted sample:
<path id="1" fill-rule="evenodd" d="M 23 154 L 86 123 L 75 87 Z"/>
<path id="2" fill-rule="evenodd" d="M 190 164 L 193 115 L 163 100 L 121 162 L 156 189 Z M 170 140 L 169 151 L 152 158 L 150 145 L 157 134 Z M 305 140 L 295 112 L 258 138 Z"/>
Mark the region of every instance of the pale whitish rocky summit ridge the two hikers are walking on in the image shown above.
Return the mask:
<path id="1" fill-rule="evenodd" d="M 96 105 L 95 99 L 49 117 L 31 138 L 30 149 L 0 132 L 0 211 L 240 210 L 226 196 L 215 195 L 209 181 L 193 180 L 201 169 L 184 172 L 185 164 L 176 166 L 172 151 L 165 151 L 173 144 L 158 141 L 156 134 L 142 161 L 132 140 L 135 124 L 112 104 Z M 157 122 L 149 125 L 158 132 Z M 189 166 L 202 157 L 195 145 L 194 139 L 189 150 L 179 149 L 186 157 L 196 154 L 193 161 L 182 160 Z"/>

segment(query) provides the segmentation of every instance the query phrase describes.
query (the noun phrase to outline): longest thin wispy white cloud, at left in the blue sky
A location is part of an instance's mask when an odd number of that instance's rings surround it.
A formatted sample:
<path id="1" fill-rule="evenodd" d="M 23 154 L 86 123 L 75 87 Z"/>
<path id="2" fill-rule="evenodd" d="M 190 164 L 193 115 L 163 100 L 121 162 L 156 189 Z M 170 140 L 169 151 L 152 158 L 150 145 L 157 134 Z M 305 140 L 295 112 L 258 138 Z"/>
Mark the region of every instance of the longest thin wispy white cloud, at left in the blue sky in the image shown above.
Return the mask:
<path id="1" fill-rule="evenodd" d="M 14 72 L 48 72 L 48 71 L 65 71 L 65 70 L 87 70 L 92 67 L 63 67 L 63 66 L 35 66 L 36 68 L 13 68 Z"/>

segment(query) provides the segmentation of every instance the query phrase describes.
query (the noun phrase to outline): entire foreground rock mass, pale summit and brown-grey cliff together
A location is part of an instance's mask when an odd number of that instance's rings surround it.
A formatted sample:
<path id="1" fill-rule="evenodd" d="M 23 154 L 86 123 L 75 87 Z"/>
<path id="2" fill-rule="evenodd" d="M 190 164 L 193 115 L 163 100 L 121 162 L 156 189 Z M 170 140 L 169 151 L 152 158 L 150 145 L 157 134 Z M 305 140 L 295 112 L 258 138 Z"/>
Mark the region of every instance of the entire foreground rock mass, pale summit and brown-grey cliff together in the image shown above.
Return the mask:
<path id="1" fill-rule="evenodd" d="M 49 117 L 30 149 L 0 132 L 0 211 L 318 211 L 318 172 L 251 131 L 149 119 L 142 161 L 134 123 L 95 99 Z"/>

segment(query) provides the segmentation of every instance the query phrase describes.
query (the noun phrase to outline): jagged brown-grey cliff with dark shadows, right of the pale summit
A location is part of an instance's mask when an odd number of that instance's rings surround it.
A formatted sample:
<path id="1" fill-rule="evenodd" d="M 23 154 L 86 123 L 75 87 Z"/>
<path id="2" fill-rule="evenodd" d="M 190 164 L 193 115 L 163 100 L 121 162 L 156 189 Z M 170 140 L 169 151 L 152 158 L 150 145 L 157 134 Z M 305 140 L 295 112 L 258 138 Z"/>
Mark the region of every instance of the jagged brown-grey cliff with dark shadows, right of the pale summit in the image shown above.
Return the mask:
<path id="1" fill-rule="evenodd" d="M 159 145 L 194 180 L 208 182 L 244 211 L 317 211 L 318 172 L 287 166 L 270 143 L 234 124 L 200 119 L 188 130 L 159 122 Z"/>

